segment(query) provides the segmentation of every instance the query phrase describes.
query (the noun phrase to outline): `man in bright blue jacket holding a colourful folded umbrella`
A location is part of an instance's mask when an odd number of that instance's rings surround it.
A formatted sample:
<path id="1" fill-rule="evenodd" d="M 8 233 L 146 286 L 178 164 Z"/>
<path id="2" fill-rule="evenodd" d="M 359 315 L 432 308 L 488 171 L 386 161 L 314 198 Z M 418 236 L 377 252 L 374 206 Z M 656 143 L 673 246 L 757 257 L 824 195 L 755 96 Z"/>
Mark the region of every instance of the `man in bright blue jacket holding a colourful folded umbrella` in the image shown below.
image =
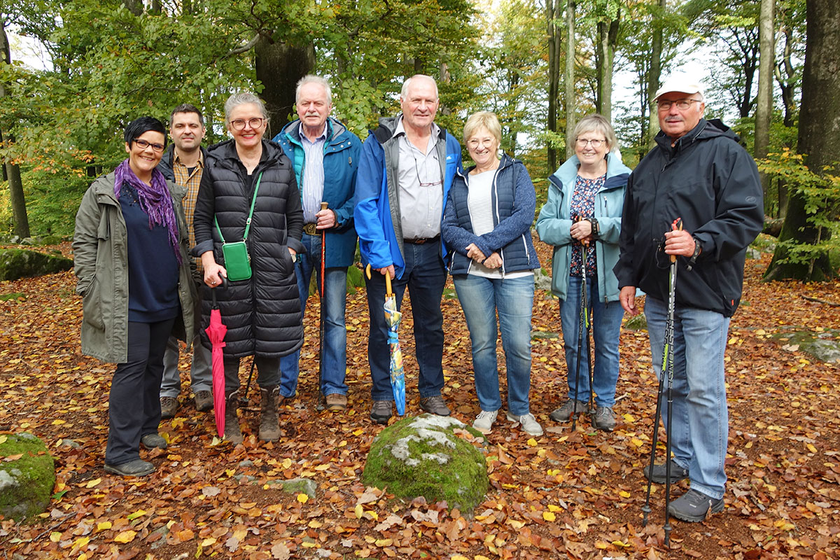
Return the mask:
<path id="1" fill-rule="evenodd" d="M 402 84 L 402 113 L 381 118 L 362 148 L 356 188 L 355 223 L 362 264 L 377 274 L 366 280 L 370 308 L 370 418 L 387 424 L 393 393 L 390 352 L 382 304 L 384 275 L 392 284 L 397 306 L 408 288 L 412 298 L 414 340 L 420 369 L 420 407 L 448 416 L 444 388 L 444 293 L 446 250 L 440 238 L 444 203 L 455 170 L 461 167 L 458 141 L 434 123 L 438 85 L 430 76 L 412 76 Z"/>

